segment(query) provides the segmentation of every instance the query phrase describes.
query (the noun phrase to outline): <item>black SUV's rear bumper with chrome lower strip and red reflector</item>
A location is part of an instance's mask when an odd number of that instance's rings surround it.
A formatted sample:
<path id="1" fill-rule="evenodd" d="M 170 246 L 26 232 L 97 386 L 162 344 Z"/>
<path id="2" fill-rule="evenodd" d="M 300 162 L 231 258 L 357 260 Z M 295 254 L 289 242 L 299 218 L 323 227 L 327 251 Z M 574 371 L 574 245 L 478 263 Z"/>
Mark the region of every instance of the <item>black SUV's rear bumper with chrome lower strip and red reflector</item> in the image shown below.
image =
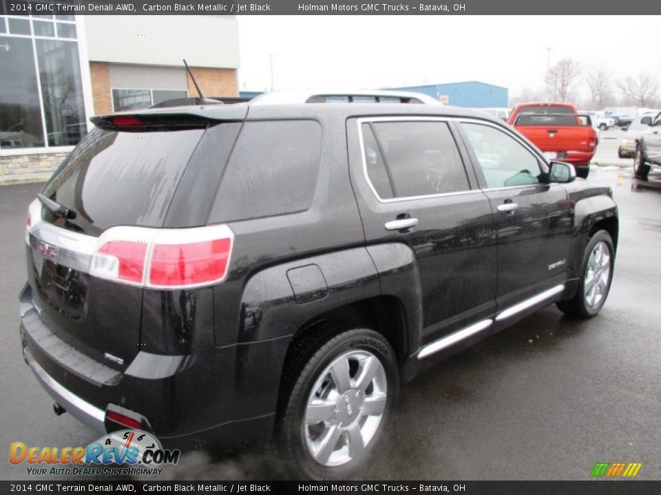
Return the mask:
<path id="1" fill-rule="evenodd" d="M 41 386 L 73 417 L 103 434 L 120 428 L 109 409 L 136 419 L 170 448 L 238 450 L 271 439 L 280 373 L 264 365 L 288 341 L 209 349 L 188 356 L 140 351 L 124 371 L 93 360 L 48 329 L 21 292 L 21 341 L 25 362 Z M 237 349 L 237 348 L 240 349 Z M 265 387 L 268 391 L 264 391 Z"/>

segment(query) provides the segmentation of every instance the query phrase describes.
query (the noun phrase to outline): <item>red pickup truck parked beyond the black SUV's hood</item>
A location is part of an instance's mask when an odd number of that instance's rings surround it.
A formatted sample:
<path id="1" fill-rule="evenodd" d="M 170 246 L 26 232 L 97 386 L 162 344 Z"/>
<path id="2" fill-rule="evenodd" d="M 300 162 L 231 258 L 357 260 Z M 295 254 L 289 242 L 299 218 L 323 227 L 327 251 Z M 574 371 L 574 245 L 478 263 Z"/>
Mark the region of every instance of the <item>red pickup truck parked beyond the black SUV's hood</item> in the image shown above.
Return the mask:
<path id="1" fill-rule="evenodd" d="M 507 122 L 549 159 L 570 163 L 578 177 L 587 177 L 598 137 L 589 117 L 580 116 L 573 104 L 518 104 Z"/>

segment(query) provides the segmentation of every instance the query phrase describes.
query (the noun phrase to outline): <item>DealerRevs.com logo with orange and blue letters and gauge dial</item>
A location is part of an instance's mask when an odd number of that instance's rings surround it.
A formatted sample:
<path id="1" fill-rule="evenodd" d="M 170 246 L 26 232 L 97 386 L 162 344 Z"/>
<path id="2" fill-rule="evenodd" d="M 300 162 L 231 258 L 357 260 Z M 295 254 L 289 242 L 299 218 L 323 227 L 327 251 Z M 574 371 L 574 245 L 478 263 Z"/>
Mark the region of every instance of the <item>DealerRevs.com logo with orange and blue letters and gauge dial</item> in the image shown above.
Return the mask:
<path id="1" fill-rule="evenodd" d="M 181 452 L 164 449 L 153 434 L 121 430 L 107 434 L 87 447 L 28 447 L 14 442 L 9 462 L 26 465 L 29 475 L 149 476 L 161 474 L 162 465 L 179 461 Z"/>

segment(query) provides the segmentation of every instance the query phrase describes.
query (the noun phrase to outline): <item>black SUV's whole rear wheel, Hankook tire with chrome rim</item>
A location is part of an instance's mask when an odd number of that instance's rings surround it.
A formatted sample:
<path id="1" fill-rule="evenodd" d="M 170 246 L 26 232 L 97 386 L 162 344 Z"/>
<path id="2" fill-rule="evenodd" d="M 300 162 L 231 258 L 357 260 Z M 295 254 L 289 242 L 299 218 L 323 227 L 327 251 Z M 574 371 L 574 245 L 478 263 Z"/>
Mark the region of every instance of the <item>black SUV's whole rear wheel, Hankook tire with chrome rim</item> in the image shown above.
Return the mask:
<path id="1" fill-rule="evenodd" d="M 274 448 L 295 476 L 342 479 L 369 458 L 389 423 L 399 367 L 373 330 L 330 324 L 308 334 L 283 375 Z"/>

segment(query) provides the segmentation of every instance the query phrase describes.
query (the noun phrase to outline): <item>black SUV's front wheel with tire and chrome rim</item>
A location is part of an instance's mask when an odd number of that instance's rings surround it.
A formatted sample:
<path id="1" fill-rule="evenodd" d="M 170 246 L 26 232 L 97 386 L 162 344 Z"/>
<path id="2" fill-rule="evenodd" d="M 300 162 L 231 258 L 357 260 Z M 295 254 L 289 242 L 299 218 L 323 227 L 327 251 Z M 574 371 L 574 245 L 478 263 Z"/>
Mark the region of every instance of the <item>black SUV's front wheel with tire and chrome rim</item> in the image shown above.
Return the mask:
<path id="1" fill-rule="evenodd" d="M 578 318 L 596 316 L 608 297 L 614 262 L 613 239 L 605 230 L 599 230 L 585 246 L 579 272 L 582 275 L 576 294 L 571 299 L 556 303 L 558 309 Z"/>

